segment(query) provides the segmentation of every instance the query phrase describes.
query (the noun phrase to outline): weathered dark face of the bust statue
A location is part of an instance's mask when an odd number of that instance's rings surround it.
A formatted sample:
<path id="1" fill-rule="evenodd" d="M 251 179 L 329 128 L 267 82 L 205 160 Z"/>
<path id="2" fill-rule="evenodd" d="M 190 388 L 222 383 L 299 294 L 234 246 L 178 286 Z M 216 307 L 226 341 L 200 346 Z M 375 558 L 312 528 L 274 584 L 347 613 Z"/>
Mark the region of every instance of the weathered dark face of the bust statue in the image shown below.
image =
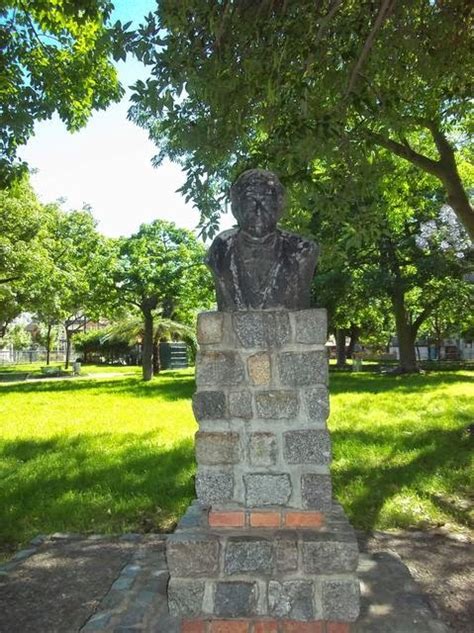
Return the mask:
<path id="1" fill-rule="evenodd" d="M 265 237 L 276 229 L 280 201 L 275 184 L 253 179 L 240 192 L 238 221 L 240 228 L 252 237 Z"/>

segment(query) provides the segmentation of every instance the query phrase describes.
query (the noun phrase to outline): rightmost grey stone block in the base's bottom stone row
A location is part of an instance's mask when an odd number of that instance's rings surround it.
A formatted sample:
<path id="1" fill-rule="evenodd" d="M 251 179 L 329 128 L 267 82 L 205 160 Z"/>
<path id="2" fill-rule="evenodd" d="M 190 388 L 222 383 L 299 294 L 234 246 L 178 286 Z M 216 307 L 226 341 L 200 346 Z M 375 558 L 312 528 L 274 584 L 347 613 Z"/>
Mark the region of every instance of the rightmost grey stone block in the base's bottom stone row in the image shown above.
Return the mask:
<path id="1" fill-rule="evenodd" d="M 359 582 L 352 579 L 324 580 L 321 587 L 322 618 L 354 622 L 359 616 Z"/>

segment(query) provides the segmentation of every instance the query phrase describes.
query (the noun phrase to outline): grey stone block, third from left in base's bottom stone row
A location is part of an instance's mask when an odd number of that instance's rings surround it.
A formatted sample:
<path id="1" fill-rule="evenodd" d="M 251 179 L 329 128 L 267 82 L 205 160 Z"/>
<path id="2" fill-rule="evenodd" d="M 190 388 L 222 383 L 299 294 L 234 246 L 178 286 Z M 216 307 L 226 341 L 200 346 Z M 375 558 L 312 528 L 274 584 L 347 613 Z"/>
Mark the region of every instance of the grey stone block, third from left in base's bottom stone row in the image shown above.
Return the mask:
<path id="1" fill-rule="evenodd" d="M 306 580 L 288 580 L 268 583 L 270 615 L 292 620 L 311 620 L 313 611 L 313 583 Z"/>

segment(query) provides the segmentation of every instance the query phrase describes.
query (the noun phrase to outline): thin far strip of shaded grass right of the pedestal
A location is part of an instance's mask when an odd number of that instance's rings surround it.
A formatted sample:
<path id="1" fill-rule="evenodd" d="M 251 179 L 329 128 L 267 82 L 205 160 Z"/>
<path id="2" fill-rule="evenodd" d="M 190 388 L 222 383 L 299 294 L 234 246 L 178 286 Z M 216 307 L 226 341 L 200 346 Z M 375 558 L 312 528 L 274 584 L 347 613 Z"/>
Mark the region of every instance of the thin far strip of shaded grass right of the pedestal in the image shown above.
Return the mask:
<path id="1" fill-rule="evenodd" d="M 360 374 L 337 373 L 329 374 L 329 390 L 331 395 L 339 393 L 384 393 L 396 391 L 398 393 L 419 393 L 436 389 L 443 385 L 459 383 L 474 383 L 474 374 L 467 376 L 453 373 L 436 372 L 433 374 L 415 375 L 384 375 L 384 374 Z"/>

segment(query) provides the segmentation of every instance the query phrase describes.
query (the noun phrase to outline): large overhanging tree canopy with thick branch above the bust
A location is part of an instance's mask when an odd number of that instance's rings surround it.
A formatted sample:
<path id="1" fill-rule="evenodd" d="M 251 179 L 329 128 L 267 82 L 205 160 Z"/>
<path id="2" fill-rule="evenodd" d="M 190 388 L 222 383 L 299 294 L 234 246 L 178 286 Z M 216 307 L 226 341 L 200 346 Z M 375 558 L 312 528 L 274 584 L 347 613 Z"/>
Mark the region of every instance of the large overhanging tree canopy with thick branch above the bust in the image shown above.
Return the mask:
<path id="1" fill-rule="evenodd" d="M 152 76 L 135 85 L 130 116 L 156 162 L 182 163 L 211 231 L 246 166 L 293 186 L 316 180 L 315 161 L 383 148 L 442 184 L 472 238 L 460 156 L 473 16 L 459 0 L 162 2 L 134 44 Z"/>

